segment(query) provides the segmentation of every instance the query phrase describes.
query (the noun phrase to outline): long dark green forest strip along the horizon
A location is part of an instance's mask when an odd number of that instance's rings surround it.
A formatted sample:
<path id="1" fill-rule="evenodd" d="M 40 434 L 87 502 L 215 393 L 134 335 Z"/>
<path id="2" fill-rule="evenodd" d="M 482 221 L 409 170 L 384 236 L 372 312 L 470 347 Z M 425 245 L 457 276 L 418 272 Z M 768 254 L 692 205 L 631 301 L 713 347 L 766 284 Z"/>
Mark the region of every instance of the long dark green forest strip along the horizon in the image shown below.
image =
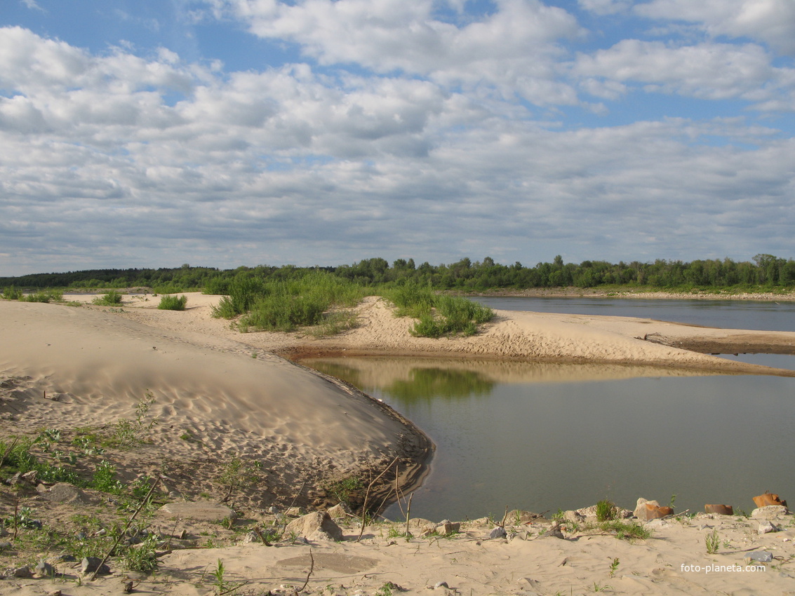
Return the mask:
<path id="1" fill-rule="evenodd" d="M 551 263 L 525 266 L 520 262 L 502 265 L 491 257 L 483 261 L 463 258 L 450 264 L 417 265 L 413 259 L 397 259 L 391 265 L 382 258 L 368 258 L 353 265 L 335 267 L 280 267 L 258 265 L 237 269 L 215 269 L 182 265 L 161 269 L 90 269 L 67 273 L 35 273 L 0 277 L 0 288 L 100 289 L 152 288 L 155 292 L 205 291 L 226 293 L 231 280 L 258 278 L 286 281 L 314 271 L 326 271 L 364 286 L 401 285 L 408 281 L 436 290 L 487 292 L 529 288 L 649 288 L 669 291 L 736 289 L 759 292 L 795 287 L 795 261 L 758 254 L 751 261 L 712 259 L 705 261 L 632 261 L 609 263 L 583 261 L 564 263 L 560 256 Z"/>

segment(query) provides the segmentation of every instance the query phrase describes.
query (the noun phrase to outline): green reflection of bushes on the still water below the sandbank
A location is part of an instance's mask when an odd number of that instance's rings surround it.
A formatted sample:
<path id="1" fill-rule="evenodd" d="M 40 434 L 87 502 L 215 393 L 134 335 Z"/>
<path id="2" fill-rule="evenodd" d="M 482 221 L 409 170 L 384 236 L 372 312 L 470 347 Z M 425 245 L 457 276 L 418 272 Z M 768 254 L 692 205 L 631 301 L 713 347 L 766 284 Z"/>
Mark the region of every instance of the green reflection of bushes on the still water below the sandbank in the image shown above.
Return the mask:
<path id="1" fill-rule="evenodd" d="M 409 379 L 392 382 L 382 392 L 404 403 L 439 398 L 484 397 L 494 390 L 494 381 L 471 370 L 416 368 Z"/>

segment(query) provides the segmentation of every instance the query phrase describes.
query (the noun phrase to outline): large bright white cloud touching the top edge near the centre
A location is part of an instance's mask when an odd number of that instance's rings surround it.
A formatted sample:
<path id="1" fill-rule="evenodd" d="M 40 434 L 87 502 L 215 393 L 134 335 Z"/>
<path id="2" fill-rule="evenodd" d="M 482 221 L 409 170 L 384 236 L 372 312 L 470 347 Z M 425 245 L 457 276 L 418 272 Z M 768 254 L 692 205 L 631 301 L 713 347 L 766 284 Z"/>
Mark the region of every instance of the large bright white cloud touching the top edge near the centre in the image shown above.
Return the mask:
<path id="1" fill-rule="evenodd" d="M 565 10 L 538 0 L 498 0 L 461 25 L 440 20 L 432 0 L 217 2 L 259 37 L 292 41 L 320 64 L 356 64 L 379 74 L 421 75 L 445 85 L 510 87 L 539 105 L 576 103 L 556 80 L 558 45 L 582 33 Z"/>

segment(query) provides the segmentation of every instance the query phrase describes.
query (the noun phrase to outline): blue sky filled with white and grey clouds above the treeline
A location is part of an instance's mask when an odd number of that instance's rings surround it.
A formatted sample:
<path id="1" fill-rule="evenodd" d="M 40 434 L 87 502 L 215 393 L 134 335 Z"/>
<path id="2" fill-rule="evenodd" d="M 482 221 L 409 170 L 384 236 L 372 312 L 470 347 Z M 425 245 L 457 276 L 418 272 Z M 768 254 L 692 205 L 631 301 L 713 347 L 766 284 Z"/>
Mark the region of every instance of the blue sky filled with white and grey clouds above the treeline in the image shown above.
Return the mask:
<path id="1" fill-rule="evenodd" d="M 0 276 L 795 257 L 793 0 L 0 0 Z"/>

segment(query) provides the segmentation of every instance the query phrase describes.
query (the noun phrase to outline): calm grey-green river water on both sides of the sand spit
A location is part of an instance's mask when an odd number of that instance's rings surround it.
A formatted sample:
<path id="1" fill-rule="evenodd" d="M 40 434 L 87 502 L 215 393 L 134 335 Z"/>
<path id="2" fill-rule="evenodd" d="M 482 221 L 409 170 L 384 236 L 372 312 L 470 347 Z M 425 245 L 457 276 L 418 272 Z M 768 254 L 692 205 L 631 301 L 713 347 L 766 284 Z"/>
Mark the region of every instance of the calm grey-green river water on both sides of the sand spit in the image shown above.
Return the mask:
<path id="1" fill-rule="evenodd" d="M 795 304 L 698 300 L 483 299 L 493 308 L 642 316 L 795 331 Z M 639 303 L 639 304 L 635 304 Z M 688 303 L 688 304 L 684 304 Z M 762 364 L 782 366 L 760 356 Z M 768 359 L 766 359 L 768 358 Z M 576 509 L 638 497 L 677 511 L 795 498 L 795 379 L 648 367 L 323 358 L 436 443 L 412 516 L 462 520 L 509 509 Z M 791 366 L 790 366 L 791 367 Z M 401 517 L 394 505 L 387 517 Z"/>

